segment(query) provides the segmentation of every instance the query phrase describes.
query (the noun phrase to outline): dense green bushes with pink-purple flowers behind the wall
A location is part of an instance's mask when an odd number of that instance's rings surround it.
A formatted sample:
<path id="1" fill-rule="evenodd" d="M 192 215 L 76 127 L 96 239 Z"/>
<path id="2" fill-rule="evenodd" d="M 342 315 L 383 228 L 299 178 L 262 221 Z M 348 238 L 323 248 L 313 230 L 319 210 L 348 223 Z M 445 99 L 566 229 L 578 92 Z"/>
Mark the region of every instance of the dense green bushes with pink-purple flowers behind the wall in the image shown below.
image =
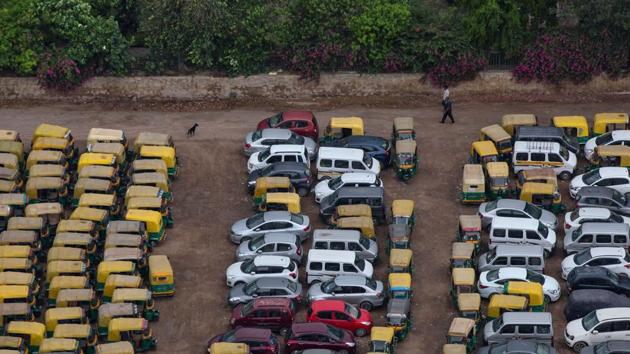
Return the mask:
<path id="1" fill-rule="evenodd" d="M 279 69 L 442 85 L 474 78 L 490 52 L 520 60 L 522 81 L 630 67 L 628 0 L 0 0 L 0 28 L 0 71 L 63 90 L 102 73 Z"/>

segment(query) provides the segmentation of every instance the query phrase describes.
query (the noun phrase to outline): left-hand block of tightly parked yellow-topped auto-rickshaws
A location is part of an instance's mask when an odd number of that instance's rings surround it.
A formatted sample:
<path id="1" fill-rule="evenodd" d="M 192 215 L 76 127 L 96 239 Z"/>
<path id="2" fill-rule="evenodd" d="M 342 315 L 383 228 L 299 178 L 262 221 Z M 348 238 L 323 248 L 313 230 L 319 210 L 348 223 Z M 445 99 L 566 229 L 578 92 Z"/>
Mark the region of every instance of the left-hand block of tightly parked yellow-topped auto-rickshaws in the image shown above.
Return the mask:
<path id="1" fill-rule="evenodd" d="M 82 154 L 61 126 L 39 125 L 28 153 L 17 132 L 0 137 L 0 170 L 12 171 L 0 194 L 0 349 L 154 349 L 153 297 L 175 290 L 168 258 L 151 254 L 173 221 L 170 136 L 128 146 L 122 131 L 93 128 Z"/>

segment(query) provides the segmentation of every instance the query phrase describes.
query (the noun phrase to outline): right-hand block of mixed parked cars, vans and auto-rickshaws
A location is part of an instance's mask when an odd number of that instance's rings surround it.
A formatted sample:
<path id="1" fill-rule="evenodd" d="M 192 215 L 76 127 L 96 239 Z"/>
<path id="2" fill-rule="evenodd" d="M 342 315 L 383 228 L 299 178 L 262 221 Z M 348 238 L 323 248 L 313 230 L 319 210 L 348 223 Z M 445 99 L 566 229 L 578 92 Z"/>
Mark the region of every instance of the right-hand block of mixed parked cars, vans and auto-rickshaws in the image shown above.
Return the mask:
<path id="1" fill-rule="evenodd" d="M 518 124 L 506 124 L 510 122 Z M 459 317 L 451 323 L 445 353 L 474 350 L 483 322 L 489 346 L 479 353 L 555 353 L 551 314 L 544 311 L 560 298 L 561 289 L 543 272 L 556 251 L 560 225 L 554 213 L 564 211 L 556 177 L 568 180 L 573 174 L 580 143 L 589 146 L 584 149 L 586 173 L 570 182 L 577 208 L 564 215 L 562 225 L 567 255 L 562 278 L 571 292 L 564 338 L 581 353 L 630 350 L 630 327 L 625 325 L 630 324 L 629 293 L 618 285 L 630 274 L 630 229 L 626 216 L 611 203 L 615 195 L 623 204 L 619 197 L 628 188 L 628 172 L 604 167 L 623 166 L 625 152 L 618 148 L 625 146 L 602 143 L 619 135 L 611 129 L 627 127 L 628 115 L 596 115 L 596 137 L 581 141 L 576 134 L 590 136 L 584 117 L 554 117 L 552 122 L 553 127 L 539 127 L 533 116 L 508 115 L 503 127 L 483 128 L 481 141 L 473 143 L 471 162 L 479 164 L 464 168 L 462 201 L 482 203 L 477 215 L 460 217 L 458 242 L 453 244 L 451 294 Z M 482 230 L 488 232 L 489 250 L 478 254 Z M 480 315 L 482 298 L 489 298 L 485 315 Z"/>

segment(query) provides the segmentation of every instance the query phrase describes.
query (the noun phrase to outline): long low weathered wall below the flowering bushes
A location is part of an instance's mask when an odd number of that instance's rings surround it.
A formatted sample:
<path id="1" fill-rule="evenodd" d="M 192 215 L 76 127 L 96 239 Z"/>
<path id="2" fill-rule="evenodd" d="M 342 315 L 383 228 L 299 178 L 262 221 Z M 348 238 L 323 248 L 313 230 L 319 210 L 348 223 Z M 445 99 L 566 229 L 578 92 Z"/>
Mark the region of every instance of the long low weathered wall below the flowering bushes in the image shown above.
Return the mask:
<path id="1" fill-rule="evenodd" d="M 457 86 L 458 95 L 507 95 L 555 93 L 613 93 L 630 91 L 630 78 L 595 78 L 586 85 L 550 86 L 518 84 L 509 72 L 484 72 L 474 81 Z M 96 77 L 70 93 L 46 91 L 34 78 L 0 78 L 0 100 L 221 100 L 263 97 L 306 99 L 331 96 L 426 96 L 439 88 L 421 82 L 419 75 L 356 73 L 324 74 L 318 82 L 296 75 L 254 75 L 223 78 L 210 76 Z M 460 96 L 461 97 L 461 96 Z"/>

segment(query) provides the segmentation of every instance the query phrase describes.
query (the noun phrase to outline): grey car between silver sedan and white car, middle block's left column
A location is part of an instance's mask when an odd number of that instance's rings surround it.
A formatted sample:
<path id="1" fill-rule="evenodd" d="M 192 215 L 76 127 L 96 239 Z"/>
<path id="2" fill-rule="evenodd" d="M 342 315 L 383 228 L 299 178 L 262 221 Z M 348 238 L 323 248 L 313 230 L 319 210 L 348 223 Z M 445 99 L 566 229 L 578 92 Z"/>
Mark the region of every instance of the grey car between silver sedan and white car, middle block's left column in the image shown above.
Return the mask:
<path id="1" fill-rule="evenodd" d="M 290 232 L 275 232 L 245 240 L 236 249 L 236 259 L 239 261 L 261 254 L 289 257 L 300 263 L 304 255 L 302 240 Z"/>

